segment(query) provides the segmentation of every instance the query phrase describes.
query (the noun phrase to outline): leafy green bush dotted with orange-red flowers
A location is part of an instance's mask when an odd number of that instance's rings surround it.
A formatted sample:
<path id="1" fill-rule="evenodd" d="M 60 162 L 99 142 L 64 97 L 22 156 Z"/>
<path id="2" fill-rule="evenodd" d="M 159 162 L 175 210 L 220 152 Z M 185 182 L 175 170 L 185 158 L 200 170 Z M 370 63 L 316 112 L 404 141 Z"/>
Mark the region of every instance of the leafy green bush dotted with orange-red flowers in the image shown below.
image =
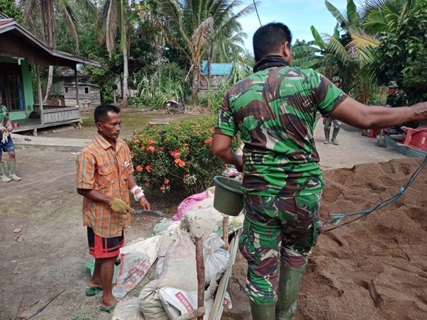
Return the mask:
<path id="1" fill-rule="evenodd" d="M 211 153 L 216 116 L 135 131 L 128 145 L 135 180 L 154 192 L 189 196 L 209 187 L 226 165 Z M 231 148 L 238 148 L 234 138 Z"/>

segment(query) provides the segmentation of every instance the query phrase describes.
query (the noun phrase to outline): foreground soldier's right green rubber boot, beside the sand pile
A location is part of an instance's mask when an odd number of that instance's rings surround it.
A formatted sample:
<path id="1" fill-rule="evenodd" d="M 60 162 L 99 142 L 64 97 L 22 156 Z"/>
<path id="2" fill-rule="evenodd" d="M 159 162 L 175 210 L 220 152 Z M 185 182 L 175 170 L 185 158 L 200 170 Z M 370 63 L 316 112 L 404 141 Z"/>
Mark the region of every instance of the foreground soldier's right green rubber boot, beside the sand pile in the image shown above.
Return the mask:
<path id="1" fill-rule="evenodd" d="M 294 320 L 304 270 L 280 265 L 279 299 L 276 304 L 277 320 Z"/>

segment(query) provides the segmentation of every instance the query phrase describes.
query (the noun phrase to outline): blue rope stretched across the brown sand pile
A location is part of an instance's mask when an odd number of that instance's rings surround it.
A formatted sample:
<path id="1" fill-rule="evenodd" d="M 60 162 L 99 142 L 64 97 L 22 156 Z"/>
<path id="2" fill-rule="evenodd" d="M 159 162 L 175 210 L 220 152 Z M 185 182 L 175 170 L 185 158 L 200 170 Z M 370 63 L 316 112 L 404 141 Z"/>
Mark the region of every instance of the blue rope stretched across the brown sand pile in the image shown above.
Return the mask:
<path id="1" fill-rule="evenodd" d="M 411 184 L 416 180 L 416 177 L 418 177 L 418 175 L 421 173 L 421 171 L 423 170 L 424 167 L 426 167 L 427 165 L 427 155 L 426 158 L 424 159 L 423 163 L 420 165 L 420 167 L 418 167 L 418 169 L 414 172 L 414 174 L 411 176 L 411 179 L 409 179 L 409 182 L 406 184 L 405 187 L 401 188 L 398 194 L 395 194 L 393 197 L 390 197 L 387 200 L 384 200 L 383 202 L 381 202 L 380 204 L 378 204 L 377 206 L 375 206 L 374 209 L 370 209 L 370 210 L 365 210 L 365 211 L 358 211 L 358 212 L 354 212 L 353 214 L 329 214 L 329 216 L 333 216 L 333 218 L 329 219 L 328 221 L 324 222 L 322 224 L 322 226 L 326 226 L 327 224 L 333 224 L 334 227 L 333 228 L 328 228 L 327 230 L 323 231 L 332 231 L 338 228 L 341 228 L 347 224 L 351 224 L 359 219 L 362 219 L 363 217 L 367 216 L 368 214 L 372 214 L 372 212 L 378 211 L 383 209 L 384 207 L 388 206 L 389 204 L 392 204 L 393 202 L 396 202 L 397 199 L 399 199 L 401 197 L 402 194 L 404 194 L 404 192 L 411 186 Z M 357 218 L 352 219 L 350 221 L 347 221 L 343 224 L 340 224 L 340 222 L 345 219 L 348 218 L 349 216 L 357 216 Z"/>

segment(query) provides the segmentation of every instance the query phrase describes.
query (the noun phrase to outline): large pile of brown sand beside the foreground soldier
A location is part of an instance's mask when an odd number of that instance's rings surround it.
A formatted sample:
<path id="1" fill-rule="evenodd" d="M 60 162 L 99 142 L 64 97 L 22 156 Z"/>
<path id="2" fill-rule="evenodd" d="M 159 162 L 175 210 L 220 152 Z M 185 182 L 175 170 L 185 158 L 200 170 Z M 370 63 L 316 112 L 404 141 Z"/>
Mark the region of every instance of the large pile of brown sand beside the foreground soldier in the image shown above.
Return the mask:
<path id="1" fill-rule="evenodd" d="M 325 172 L 321 218 L 371 209 L 399 192 L 420 159 Z M 323 233 L 309 259 L 297 320 L 427 319 L 427 170 L 397 201 L 367 219 Z M 223 319 L 250 319 L 239 254 Z"/>

